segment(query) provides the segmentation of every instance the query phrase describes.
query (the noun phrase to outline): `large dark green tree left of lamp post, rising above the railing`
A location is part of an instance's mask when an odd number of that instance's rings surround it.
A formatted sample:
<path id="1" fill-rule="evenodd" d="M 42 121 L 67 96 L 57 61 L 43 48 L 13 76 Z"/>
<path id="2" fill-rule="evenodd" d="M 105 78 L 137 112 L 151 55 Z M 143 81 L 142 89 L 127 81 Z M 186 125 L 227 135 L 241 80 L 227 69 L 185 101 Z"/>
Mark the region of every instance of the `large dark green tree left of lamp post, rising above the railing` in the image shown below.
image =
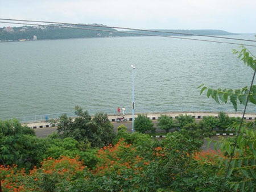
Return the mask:
<path id="1" fill-rule="evenodd" d="M 107 114 L 99 112 L 92 119 L 88 111 L 83 112 L 79 106 L 75 107 L 75 114 L 75 120 L 66 114 L 60 116 L 57 131 L 62 138 L 72 137 L 77 141 L 89 142 L 92 147 L 103 147 L 112 142 L 115 133 Z"/>

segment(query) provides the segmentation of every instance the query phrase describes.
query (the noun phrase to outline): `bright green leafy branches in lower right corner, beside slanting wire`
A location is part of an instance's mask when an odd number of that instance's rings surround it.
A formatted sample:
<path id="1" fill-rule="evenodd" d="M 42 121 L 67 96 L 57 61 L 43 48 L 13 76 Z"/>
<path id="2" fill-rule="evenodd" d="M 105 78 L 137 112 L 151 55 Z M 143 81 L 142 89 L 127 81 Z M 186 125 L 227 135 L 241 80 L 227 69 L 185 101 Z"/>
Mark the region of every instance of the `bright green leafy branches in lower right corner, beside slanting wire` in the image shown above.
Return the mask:
<path id="1" fill-rule="evenodd" d="M 251 127 L 252 126 L 252 127 Z M 238 131 L 239 125 L 234 125 L 229 127 Z M 251 127 L 251 129 L 248 129 Z M 253 191 L 256 185 L 255 177 L 255 162 L 256 162 L 256 128 L 252 122 L 243 123 L 240 136 L 238 136 L 237 143 L 234 137 L 229 137 L 224 139 L 222 137 L 220 140 L 208 140 L 208 147 L 213 141 L 214 148 L 220 148 L 223 156 L 219 156 L 220 164 L 222 166 L 221 172 L 225 172 L 228 168 L 228 163 L 230 161 L 230 156 L 232 155 L 233 145 L 236 145 L 234 157 L 230 162 L 230 169 L 228 172 L 228 185 L 230 189 L 237 191 Z"/>

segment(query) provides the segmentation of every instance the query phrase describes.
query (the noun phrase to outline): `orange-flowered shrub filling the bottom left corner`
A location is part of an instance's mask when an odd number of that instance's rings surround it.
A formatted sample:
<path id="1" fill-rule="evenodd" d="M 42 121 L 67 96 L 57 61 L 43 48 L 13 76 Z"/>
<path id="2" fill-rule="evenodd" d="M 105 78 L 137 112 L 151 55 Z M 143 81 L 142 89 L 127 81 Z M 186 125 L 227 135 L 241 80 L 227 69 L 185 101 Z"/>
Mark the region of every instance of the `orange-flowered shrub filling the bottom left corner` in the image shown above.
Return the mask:
<path id="1" fill-rule="evenodd" d="M 68 183 L 77 177 L 82 177 L 86 166 L 78 161 L 78 157 L 61 157 L 53 160 L 48 157 L 41 162 L 41 168 L 24 173 L 24 169 L 18 170 L 17 166 L 0 166 L 0 176 L 3 191 L 56 191 L 67 189 Z"/>

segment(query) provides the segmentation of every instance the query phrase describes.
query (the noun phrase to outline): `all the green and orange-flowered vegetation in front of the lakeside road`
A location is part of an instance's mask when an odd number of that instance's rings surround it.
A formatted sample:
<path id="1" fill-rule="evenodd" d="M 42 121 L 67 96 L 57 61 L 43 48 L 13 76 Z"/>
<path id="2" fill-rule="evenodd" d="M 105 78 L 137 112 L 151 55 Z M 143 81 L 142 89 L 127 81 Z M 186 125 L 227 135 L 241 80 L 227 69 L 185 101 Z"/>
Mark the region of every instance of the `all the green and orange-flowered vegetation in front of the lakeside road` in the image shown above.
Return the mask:
<path id="1" fill-rule="evenodd" d="M 0 120 L 2 191 L 256 189 L 255 122 L 243 123 L 237 141 L 208 139 L 208 146 L 213 142 L 216 150 L 201 151 L 204 137 L 216 130 L 237 132 L 241 119 L 220 113 L 219 118 L 207 116 L 197 124 L 189 115 L 176 120 L 162 115 L 158 126 L 168 133 L 158 141 L 144 133 L 154 132 L 146 115 L 135 120 L 137 132 L 130 134 L 121 125 L 115 134 L 107 114 L 91 118 L 78 106 L 75 112 L 75 120 L 61 116 L 57 133 L 46 138 L 36 137 L 34 130 L 16 119 Z"/>

